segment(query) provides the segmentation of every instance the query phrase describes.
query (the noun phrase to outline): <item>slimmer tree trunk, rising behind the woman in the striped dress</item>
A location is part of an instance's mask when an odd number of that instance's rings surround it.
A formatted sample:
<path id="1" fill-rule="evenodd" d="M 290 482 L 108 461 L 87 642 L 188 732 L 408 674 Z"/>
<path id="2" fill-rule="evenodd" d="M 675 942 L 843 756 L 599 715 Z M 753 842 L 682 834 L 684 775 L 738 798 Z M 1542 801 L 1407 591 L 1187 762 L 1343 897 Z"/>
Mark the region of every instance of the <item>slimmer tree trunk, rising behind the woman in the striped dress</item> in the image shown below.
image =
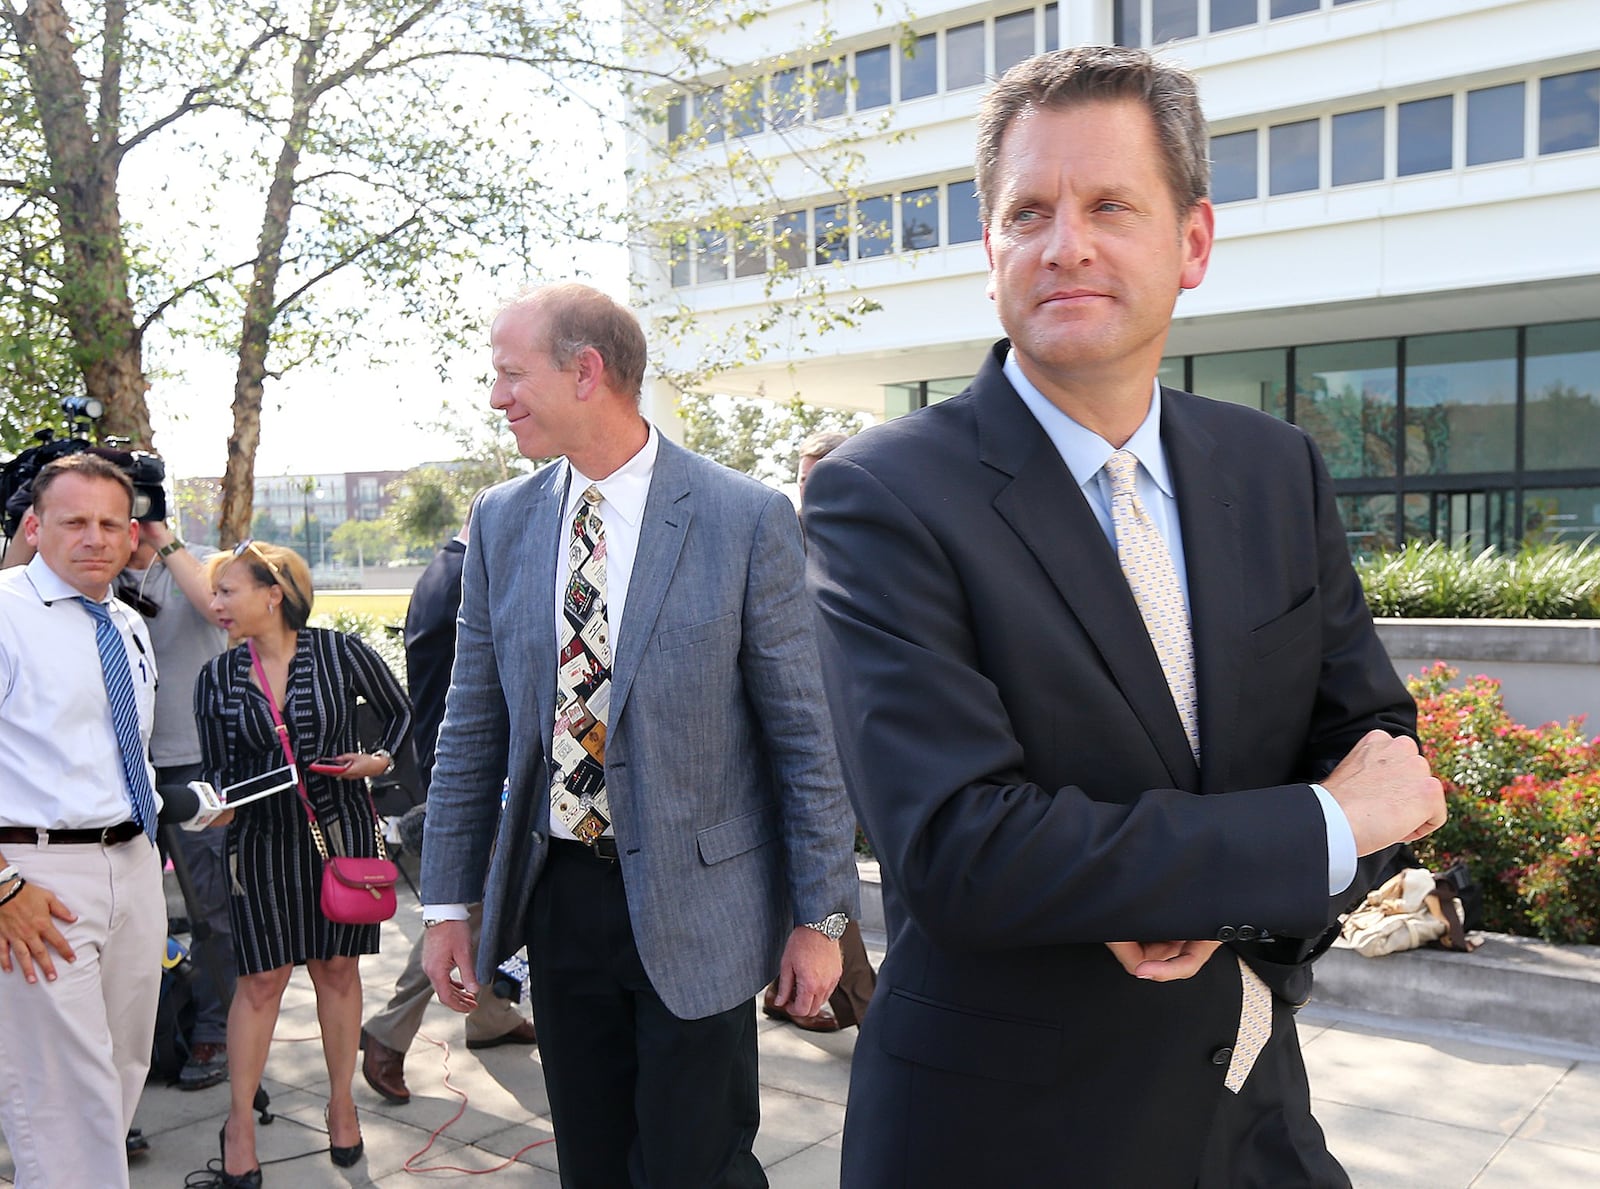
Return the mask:
<path id="1" fill-rule="evenodd" d="M 290 91 L 290 125 L 278 146 L 278 162 L 267 190 L 267 210 L 256 242 L 256 264 L 245 299 L 245 318 L 238 336 L 238 371 L 234 376 L 234 432 L 227 438 L 227 470 L 222 472 L 222 518 L 218 525 L 224 549 L 250 536 L 256 496 L 256 448 L 261 445 L 261 394 L 267 379 L 267 347 L 277 318 L 278 274 L 283 269 L 283 242 L 294 214 L 294 171 L 299 168 L 306 128 L 317 102 L 317 56 L 328 34 L 336 0 L 318 3 L 310 27 L 301 40 L 294 59 Z"/>

